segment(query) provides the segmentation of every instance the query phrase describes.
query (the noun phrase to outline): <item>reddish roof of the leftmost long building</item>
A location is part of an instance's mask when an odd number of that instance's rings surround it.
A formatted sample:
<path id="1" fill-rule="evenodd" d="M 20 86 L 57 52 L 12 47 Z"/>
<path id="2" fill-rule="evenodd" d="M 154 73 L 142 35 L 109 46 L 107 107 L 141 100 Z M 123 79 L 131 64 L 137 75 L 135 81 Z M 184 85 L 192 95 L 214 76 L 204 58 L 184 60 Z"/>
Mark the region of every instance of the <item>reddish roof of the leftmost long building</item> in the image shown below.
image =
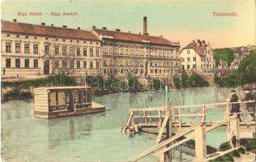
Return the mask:
<path id="1" fill-rule="evenodd" d="M 59 28 L 31 23 L 15 23 L 11 21 L 2 21 L 2 32 L 15 32 L 19 34 L 40 36 L 58 36 L 81 40 L 99 40 L 92 32 L 85 30 Z"/>

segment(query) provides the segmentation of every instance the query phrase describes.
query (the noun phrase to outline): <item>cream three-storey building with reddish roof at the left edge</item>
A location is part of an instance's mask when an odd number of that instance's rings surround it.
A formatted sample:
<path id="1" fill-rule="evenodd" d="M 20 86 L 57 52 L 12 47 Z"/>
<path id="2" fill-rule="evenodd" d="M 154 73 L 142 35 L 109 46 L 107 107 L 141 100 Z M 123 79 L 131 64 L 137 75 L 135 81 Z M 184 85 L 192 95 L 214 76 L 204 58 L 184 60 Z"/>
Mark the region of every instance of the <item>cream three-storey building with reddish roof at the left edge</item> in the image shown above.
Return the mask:
<path id="1" fill-rule="evenodd" d="M 2 77 L 101 71 L 100 40 L 78 29 L 2 21 Z"/>

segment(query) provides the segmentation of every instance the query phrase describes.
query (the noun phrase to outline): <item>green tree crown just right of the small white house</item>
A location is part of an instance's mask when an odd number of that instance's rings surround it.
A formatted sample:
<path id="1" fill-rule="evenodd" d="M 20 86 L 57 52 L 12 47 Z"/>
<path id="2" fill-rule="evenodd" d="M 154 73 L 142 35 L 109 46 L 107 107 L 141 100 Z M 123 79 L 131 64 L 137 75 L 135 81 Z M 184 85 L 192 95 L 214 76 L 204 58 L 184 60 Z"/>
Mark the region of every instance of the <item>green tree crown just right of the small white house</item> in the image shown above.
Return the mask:
<path id="1" fill-rule="evenodd" d="M 234 60 L 234 51 L 232 49 L 214 49 L 213 52 L 216 66 L 220 64 L 220 60 L 228 62 L 228 66 L 230 66 L 231 62 Z"/>

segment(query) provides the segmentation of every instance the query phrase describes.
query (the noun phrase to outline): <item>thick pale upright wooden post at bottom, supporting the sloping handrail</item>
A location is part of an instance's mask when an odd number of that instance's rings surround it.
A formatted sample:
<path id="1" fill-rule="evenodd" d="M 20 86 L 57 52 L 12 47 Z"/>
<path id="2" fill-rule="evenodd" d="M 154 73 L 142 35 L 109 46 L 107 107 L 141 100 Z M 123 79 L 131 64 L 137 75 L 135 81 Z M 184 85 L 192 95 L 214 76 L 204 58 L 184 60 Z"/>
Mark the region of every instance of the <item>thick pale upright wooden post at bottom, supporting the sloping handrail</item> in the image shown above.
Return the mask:
<path id="1" fill-rule="evenodd" d="M 205 126 L 196 126 L 194 129 L 195 159 L 194 161 L 204 161 L 207 158 L 207 143 Z"/>

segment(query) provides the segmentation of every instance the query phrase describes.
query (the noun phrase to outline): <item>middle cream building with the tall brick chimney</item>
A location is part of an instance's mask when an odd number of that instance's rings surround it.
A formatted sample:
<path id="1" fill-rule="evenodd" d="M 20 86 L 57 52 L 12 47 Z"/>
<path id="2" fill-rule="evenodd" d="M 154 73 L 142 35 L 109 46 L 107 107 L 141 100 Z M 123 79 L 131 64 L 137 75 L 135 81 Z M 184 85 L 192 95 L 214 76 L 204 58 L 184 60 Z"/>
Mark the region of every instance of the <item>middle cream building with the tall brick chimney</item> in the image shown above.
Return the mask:
<path id="1" fill-rule="evenodd" d="M 93 28 L 102 40 L 104 75 L 166 76 L 181 70 L 179 43 L 149 36 L 145 17 L 143 25 L 143 34 Z"/>

